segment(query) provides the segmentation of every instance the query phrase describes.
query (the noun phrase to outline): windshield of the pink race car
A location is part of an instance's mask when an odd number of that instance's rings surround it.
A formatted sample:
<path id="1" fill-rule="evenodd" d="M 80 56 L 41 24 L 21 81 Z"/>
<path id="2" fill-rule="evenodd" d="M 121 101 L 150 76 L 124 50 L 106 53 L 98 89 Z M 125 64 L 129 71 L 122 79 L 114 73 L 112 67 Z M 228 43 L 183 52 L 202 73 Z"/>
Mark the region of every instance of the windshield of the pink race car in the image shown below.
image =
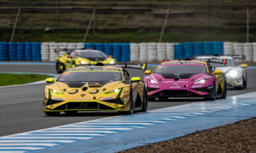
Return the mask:
<path id="1" fill-rule="evenodd" d="M 202 63 L 166 63 L 158 66 L 154 73 L 207 73 L 205 64 Z"/>

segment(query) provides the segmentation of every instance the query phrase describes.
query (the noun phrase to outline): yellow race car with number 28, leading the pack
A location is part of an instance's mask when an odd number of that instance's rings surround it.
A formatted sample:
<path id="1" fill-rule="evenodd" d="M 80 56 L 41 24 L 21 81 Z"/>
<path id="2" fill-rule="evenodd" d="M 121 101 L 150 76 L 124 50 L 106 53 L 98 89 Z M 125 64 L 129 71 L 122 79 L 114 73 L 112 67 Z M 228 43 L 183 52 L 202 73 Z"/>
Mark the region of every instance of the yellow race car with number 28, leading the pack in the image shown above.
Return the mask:
<path id="1" fill-rule="evenodd" d="M 84 64 L 67 69 L 56 80 L 47 78 L 42 111 L 46 115 L 77 111 L 146 112 L 145 83 L 140 77 L 131 78 L 125 68 L 146 69 L 147 64 Z"/>

